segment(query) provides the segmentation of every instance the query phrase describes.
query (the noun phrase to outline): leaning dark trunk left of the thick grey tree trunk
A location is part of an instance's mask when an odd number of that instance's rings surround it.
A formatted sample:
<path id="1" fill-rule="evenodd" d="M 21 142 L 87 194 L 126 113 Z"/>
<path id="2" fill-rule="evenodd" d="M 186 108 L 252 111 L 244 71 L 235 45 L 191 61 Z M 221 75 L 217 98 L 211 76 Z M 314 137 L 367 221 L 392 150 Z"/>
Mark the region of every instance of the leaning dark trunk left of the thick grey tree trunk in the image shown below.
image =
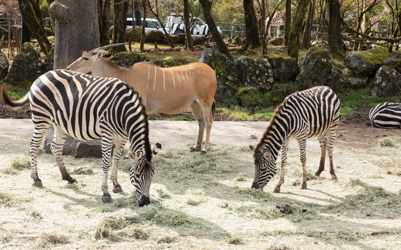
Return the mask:
<path id="1" fill-rule="evenodd" d="M 20 6 L 22 18 L 24 19 L 28 28 L 31 30 L 32 35 L 38 40 L 39 46 L 41 47 L 42 51 L 47 54 L 52 48 L 52 44 L 47 39 L 45 27 L 43 26 L 43 21 L 42 23 L 39 22 L 38 17 L 36 16 L 36 12 L 30 4 L 30 0 L 18 0 L 18 3 Z"/>

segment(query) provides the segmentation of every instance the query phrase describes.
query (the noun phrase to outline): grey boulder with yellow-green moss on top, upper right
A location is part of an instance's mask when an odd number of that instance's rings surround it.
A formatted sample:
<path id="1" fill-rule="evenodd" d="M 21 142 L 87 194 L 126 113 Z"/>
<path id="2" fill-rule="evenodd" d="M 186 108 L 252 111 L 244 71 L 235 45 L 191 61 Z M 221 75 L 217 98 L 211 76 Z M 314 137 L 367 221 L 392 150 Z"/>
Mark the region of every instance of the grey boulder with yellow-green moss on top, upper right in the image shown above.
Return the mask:
<path id="1" fill-rule="evenodd" d="M 383 59 L 389 55 L 387 48 L 375 47 L 363 51 L 351 51 L 344 58 L 344 65 L 357 76 L 365 77 L 374 75 L 381 65 Z"/>

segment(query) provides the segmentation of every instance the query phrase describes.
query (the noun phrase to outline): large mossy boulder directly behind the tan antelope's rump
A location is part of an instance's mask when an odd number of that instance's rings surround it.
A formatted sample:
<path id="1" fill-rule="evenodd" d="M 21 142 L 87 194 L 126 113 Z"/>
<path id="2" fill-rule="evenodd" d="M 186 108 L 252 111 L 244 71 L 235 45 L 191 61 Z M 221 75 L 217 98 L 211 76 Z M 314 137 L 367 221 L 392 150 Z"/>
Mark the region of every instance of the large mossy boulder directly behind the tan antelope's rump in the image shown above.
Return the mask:
<path id="1" fill-rule="evenodd" d="M 216 71 L 216 100 L 222 101 L 232 98 L 237 94 L 240 80 L 237 72 L 237 65 L 234 61 L 213 48 L 206 48 L 202 51 L 196 61 L 204 62 Z"/>

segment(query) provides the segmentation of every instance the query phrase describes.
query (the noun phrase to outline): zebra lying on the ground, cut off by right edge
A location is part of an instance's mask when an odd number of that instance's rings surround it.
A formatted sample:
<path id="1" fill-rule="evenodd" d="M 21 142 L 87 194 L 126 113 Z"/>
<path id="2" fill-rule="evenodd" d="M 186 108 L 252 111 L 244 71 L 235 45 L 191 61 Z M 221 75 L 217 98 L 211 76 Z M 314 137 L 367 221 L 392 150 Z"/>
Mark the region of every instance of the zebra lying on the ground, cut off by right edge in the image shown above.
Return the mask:
<path id="1" fill-rule="evenodd" d="M 369 118 L 375 127 L 398 128 L 401 126 L 401 103 L 379 103 L 370 109 Z"/>

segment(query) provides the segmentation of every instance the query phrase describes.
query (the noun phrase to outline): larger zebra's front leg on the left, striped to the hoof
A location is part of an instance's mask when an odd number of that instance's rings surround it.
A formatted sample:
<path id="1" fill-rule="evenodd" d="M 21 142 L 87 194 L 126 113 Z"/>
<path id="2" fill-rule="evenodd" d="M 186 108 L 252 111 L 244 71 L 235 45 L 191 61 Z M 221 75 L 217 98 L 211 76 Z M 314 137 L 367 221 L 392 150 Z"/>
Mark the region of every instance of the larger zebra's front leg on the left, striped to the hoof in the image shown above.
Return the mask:
<path id="1" fill-rule="evenodd" d="M 102 135 L 102 169 L 103 169 L 103 182 L 102 182 L 102 190 L 103 203 L 111 203 L 111 195 L 109 193 L 109 187 L 107 185 L 107 175 L 110 168 L 110 155 L 111 149 L 113 147 L 114 138 L 108 134 Z"/>

